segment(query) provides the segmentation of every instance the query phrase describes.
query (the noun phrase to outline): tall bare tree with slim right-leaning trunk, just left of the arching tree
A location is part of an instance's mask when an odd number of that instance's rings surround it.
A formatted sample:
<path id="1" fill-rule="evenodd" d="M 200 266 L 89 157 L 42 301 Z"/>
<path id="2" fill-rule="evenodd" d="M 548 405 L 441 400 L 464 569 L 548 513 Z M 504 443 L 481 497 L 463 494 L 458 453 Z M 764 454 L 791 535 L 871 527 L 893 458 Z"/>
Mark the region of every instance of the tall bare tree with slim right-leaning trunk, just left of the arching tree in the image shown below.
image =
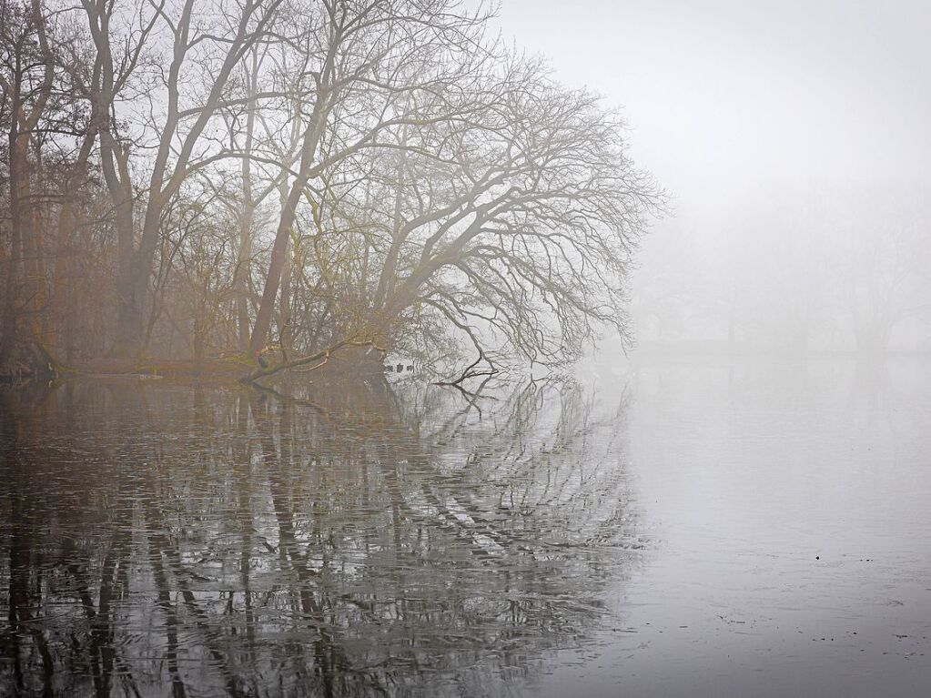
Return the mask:
<path id="1" fill-rule="evenodd" d="M 449 0 L 324 0 L 292 44 L 302 56 L 299 157 L 282 202 L 250 350 L 267 341 L 287 246 L 308 185 L 365 149 L 385 147 L 386 129 L 414 90 L 454 81 L 463 64 L 450 52 L 480 47 L 481 15 L 456 14 Z M 326 149 L 326 155 L 322 153 Z"/>

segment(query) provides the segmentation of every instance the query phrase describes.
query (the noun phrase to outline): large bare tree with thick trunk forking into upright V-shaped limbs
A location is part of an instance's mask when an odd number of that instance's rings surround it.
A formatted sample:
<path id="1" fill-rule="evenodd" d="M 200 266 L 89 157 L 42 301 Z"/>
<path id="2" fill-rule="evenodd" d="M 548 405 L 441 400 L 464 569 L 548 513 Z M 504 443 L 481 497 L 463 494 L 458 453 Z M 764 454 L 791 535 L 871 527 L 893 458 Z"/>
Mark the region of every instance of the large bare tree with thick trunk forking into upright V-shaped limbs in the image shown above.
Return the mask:
<path id="1" fill-rule="evenodd" d="M 223 157 L 205 142 L 209 127 L 227 103 L 230 75 L 267 33 L 280 4 L 243 0 L 205 7 L 184 0 L 175 6 L 162 0 L 130 10 L 107 0 L 83 2 L 102 65 L 92 100 L 101 119 L 101 167 L 119 234 L 117 355 L 143 349 L 162 215 L 187 178 Z M 150 98 L 149 114 L 135 130 L 122 128 L 123 101 L 140 97 L 142 89 Z M 133 181 L 137 171 L 145 173 L 142 192 Z"/>

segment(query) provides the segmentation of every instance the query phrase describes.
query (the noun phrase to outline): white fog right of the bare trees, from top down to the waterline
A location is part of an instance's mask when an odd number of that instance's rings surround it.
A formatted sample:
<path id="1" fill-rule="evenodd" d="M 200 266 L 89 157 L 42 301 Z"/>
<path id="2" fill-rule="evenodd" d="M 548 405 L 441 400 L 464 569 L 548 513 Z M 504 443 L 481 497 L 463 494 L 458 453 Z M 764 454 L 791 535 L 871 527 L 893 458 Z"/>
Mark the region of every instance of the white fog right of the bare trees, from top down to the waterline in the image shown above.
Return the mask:
<path id="1" fill-rule="evenodd" d="M 633 276 L 641 351 L 927 351 L 929 20 L 919 2 L 502 7 L 503 34 L 621 110 L 673 197 Z"/>

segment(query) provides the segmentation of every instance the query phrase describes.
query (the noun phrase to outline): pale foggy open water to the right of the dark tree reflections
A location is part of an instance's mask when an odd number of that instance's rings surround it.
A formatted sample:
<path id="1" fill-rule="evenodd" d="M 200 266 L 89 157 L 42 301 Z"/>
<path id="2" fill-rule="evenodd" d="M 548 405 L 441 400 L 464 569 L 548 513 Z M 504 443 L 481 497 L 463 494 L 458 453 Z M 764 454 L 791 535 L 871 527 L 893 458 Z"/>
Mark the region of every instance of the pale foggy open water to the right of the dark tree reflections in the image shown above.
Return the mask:
<path id="1" fill-rule="evenodd" d="M 668 360 L 621 381 L 644 563 L 545 695 L 931 695 L 931 367 Z"/>

